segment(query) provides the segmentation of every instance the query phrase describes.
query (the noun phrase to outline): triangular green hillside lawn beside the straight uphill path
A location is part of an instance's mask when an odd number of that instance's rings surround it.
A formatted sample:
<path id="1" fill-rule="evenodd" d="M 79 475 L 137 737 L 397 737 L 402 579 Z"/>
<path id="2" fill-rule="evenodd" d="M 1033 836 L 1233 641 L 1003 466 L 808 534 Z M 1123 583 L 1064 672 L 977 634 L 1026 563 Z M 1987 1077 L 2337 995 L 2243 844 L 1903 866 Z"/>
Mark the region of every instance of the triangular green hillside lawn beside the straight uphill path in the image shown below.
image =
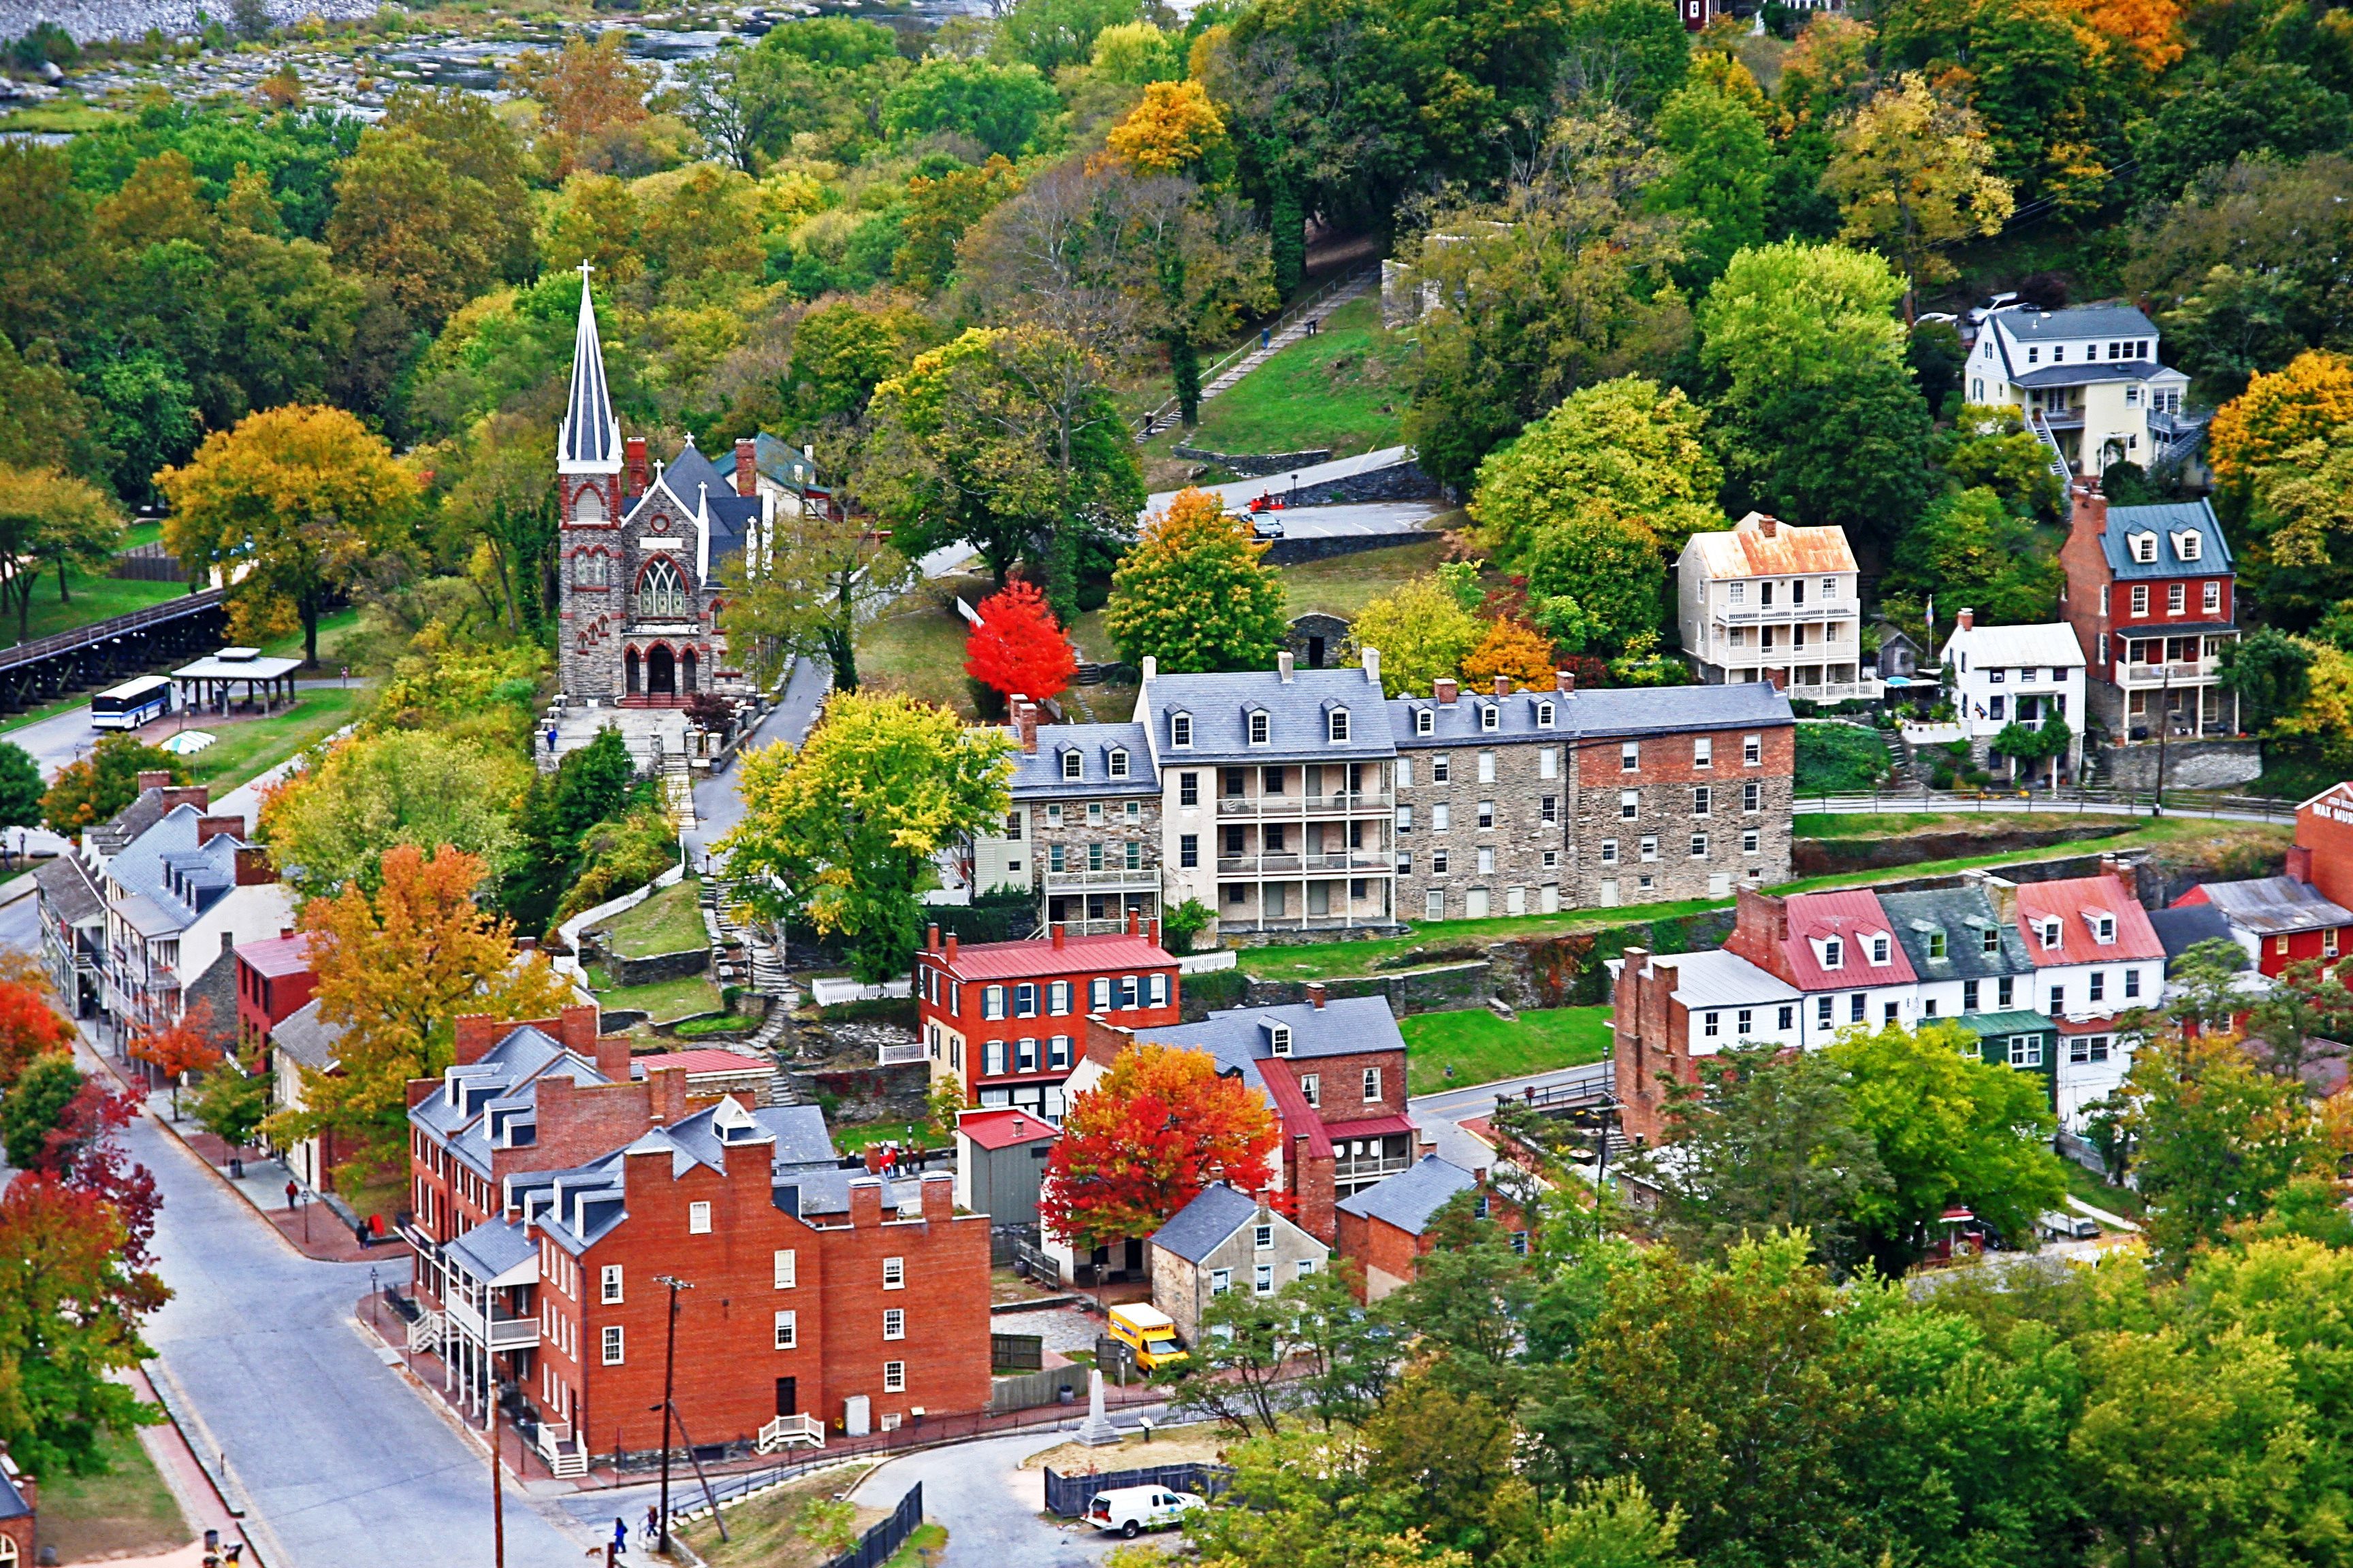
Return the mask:
<path id="1" fill-rule="evenodd" d="M 1200 404 L 1188 435 L 1158 437 L 1167 454 L 1179 440 L 1207 451 L 1306 451 L 1329 447 L 1355 456 L 1395 447 L 1412 400 L 1414 341 L 1381 331 L 1379 299 L 1355 299 L 1313 339 L 1299 339 L 1226 393 Z"/>

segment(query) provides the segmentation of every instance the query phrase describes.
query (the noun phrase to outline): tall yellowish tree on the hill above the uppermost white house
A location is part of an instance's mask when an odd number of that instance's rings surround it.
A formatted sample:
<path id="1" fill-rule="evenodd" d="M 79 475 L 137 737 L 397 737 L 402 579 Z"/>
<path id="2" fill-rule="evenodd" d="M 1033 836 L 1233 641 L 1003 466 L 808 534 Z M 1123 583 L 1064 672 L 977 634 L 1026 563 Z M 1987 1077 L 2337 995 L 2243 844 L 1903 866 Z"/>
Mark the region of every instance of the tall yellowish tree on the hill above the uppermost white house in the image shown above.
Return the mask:
<path id="1" fill-rule="evenodd" d="M 1838 197 L 1840 240 L 1873 244 L 1904 268 L 1904 315 L 1922 282 L 1944 282 L 1944 249 L 1998 235 L 2009 221 L 2009 181 L 1988 172 L 1993 148 L 1977 113 L 1918 71 L 1854 110 L 1821 188 Z"/>

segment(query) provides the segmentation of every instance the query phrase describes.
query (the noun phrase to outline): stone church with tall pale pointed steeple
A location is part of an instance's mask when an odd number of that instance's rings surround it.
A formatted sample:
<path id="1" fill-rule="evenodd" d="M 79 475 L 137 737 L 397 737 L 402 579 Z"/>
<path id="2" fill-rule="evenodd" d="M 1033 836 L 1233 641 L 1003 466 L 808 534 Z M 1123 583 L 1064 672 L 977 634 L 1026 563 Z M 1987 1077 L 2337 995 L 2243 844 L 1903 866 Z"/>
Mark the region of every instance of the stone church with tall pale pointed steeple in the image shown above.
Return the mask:
<path id="1" fill-rule="evenodd" d="M 720 632 L 720 578 L 729 557 L 767 538 L 774 496 L 760 494 L 753 442 L 736 442 L 729 480 L 692 437 L 652 470 L 645 440 L 621 440 L 586 268 L 572 395 L 555 437 L 555 491 L 565 696 L 675 708 L 696 691 L 748 691 Z"/>

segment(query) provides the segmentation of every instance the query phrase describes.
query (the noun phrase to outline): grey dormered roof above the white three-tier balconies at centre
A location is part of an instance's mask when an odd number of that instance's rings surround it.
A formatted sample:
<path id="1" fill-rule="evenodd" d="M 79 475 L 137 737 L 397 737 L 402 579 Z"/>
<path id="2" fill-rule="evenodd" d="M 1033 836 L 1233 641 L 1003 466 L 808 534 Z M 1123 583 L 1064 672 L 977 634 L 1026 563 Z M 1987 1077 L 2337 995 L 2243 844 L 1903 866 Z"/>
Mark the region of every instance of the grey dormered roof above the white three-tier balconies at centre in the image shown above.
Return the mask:
<path id="1" fill-rule="evenodd" d="M 1327 741 L 1327 712 L 1348 710 L 1348 741 Z M 1148 726 L 1160 766 L 1186 762 L 1372 762 L 1395 757 L 1381 724 L 1381 684 L 1362 670 L 1275 670 L 1228 675 L 1155 675 L 1136 696 L 1136 717 Z M 1266 745 L 1249 745 L 1249 715 L 1268 717 Z M 1193 715 L 1193 745 L 1169 743 L 1169 715 Z"/>

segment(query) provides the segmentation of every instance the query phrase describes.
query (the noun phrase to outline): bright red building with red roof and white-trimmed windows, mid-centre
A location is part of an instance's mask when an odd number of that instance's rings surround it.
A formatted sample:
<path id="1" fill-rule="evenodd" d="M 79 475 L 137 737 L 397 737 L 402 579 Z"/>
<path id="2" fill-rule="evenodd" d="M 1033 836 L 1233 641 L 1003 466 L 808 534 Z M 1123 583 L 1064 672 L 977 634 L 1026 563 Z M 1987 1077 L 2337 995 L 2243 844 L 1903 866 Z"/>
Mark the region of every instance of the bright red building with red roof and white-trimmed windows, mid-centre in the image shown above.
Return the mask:
<path id="1" fill-rule="evenodd" d="M 1127 931 L 1033 943 L 960 945 L 939 926 L 915 954 L 915 1027 L 932 1081 L 965 1105 L 1061 1121 L 1064 1084 L 1085 1051 L 1085 1020 L 1141 1030 L 1176 1023 L 1176 959 L 1160 922 L 1129 912 Z"/>

